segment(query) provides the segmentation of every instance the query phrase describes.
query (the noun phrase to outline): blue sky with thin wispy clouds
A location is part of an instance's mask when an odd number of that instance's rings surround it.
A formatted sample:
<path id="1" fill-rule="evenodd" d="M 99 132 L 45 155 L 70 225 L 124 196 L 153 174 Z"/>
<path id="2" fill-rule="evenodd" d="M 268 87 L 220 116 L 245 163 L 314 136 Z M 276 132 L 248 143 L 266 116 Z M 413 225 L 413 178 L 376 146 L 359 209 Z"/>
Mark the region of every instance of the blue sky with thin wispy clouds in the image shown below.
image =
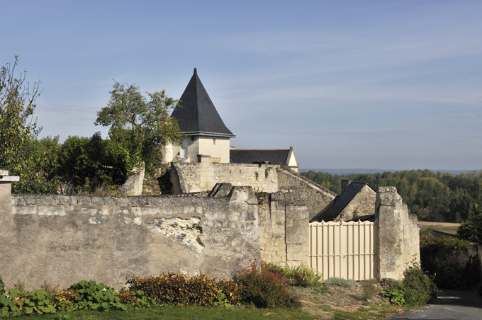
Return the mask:
<path id="1" fill-rule="evenodd" d="M 194 68 L 236 149 L 300 168 L 482 169 L 482 1 L 0 1 L 0 64 L 39 137 L 91 137 L 113 80 L 180 98 Z"/>

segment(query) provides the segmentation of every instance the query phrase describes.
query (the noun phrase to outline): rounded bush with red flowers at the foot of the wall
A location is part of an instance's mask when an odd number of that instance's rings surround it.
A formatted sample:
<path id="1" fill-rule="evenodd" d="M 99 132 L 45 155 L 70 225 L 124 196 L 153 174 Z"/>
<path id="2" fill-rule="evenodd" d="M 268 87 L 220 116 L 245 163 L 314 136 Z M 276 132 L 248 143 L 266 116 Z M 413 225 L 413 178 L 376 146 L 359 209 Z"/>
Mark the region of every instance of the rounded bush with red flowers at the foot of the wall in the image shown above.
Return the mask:
<path id="1" fill-rule="evenodd" d="M 286 278 L 267 268 L 266 263 L 252 263 L 250 268 L 241 270 L 235 277 L 240 285 L 242 302 L 256 307 L 289 305 L 293 299 L 288 293 Z"/>

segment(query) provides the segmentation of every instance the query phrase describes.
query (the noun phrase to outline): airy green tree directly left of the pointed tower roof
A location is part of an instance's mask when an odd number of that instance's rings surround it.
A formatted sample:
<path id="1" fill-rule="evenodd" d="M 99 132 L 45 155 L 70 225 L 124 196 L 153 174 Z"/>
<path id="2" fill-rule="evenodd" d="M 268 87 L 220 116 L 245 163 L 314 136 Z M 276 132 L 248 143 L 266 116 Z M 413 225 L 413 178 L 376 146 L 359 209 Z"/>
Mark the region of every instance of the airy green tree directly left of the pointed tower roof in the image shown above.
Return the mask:
<path id="1" fill-rule="evenodd" d="M 139 87 L 114 81 L 111 100 L 97 113 L 95 125 L 110 127 L 109 137 L 130 152 L 131 159 L 152 166 L 159 161 L 159 147 L 169 142 L 182 142 L 176 119 L 169 117 L 178 101 L 160 91 L 147 93 Z"/>

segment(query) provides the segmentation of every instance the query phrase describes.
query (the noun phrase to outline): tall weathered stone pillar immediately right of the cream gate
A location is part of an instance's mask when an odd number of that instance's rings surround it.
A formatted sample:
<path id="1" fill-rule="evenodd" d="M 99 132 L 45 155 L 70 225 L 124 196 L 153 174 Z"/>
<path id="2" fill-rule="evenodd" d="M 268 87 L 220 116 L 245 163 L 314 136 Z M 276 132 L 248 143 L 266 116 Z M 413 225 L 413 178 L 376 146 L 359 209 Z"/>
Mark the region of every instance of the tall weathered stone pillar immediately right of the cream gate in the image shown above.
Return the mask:
<path id="1" fill-rule="evenodd" d="M 395 187 L 379 187 L 376 196 L 377 278 L 403 279 L 412 261 L 420 262 L 417 216 L 408 208 Z"/>

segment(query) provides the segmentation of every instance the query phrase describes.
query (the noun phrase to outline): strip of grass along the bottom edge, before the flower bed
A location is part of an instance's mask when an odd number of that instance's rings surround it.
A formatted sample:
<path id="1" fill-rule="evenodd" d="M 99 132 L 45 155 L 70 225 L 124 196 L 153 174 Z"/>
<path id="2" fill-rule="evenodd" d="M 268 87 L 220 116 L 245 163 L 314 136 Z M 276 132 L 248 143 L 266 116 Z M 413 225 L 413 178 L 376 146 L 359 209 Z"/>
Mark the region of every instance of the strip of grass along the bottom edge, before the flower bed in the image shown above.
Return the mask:
<path id="1" fill-rule="evenodd" d="M 318 308 L 317 308 L 318 309 Z M 367 306 L 361 312 L 344 312 L 342 310 L 333 310 L 330 307 L 320 306 L 319 313 L 313 317 L 313 309 L 310 312 L 303 311 L 302 308 L 271 308 L 259 309 L 255 307 L 155 307 L 150 309 L 132 309 L 127 312 L 111 311 L 111 312 L 95 312 L 82 311 L 70 312 L 68 318 L 63 318 L 60 314 L 42 314 L 40 316 L 18 316 L 13 320 L 21 319 L 80 319 L 80 320 L 123 320 L 123 319 L 385 319 L 388 313 L 395 312 L 391 307 L 373 307 Z"/>

